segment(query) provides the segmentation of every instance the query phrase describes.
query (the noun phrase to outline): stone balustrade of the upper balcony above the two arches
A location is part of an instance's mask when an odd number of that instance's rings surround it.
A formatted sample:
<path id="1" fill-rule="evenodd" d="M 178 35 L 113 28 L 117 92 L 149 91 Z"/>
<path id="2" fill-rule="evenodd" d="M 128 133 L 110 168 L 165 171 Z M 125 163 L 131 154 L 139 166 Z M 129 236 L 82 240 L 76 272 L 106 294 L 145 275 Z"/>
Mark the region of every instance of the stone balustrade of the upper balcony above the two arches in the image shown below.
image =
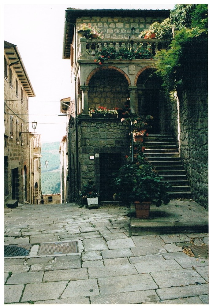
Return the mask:
<path id="1" fill-rule="evenodd" d="M 147 44 L 150 44 L 151 53 L 154 57 L 155 54 L 161 49 L 167 49 L 170 42 L 170 39 L 86 39 L 84 37 L 80 37 L 80 44 L 78 45 L 77 51 L 77 61 L 94 61 L 97 59 L 98 51 L 102 50 L 104 47 L 114 48 L 117 51 L 120 48 L 137 50 L 141 44 L 143 44 L 144 47 L 146 47 Z M 115 59 L 111 60 L 111 62 L 112 61 L 119 62 L 121 60 Z"/>

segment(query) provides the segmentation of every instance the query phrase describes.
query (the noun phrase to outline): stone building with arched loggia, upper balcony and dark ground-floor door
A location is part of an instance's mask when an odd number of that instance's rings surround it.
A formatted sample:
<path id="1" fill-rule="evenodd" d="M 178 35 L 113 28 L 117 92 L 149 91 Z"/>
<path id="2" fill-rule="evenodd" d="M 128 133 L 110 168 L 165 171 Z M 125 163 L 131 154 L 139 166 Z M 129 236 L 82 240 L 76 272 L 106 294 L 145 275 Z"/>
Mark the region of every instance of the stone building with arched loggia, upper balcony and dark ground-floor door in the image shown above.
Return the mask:
<path id="1" fill-rule="evenodd" d="M 79 191 L 89 179 L 101 191 L 100 200 L 113 200 L 112 173 L 125 163 L 125 155 L 130 150 L 130 127 L 123 125 L 120 118 L 90 117 L 89 109 L 101 106 L 110 110 L 124 109 L 128 105 L 132 113 L 152 115 L 151 133 L 171 135 L 177 154 L 183 152 L 180 147 L 187 140 L 179 132 L 178 100 L 170 105 L 163 93 L 161 80 L 153 73 L 155 53 L 166 48 L 170 40 L 146 39 L 146 43 L 151 45 L 151 59 L 98 60 L 98 51 L 104 48 L 136 50 L 140 43 L 145 42 L 145 39 L 139 38 L 140 32 L 155 21 L 162 22 L 169 14 L 169 10 L 66 9 L 63 58 L 71 62 L 74 87 L 74 97 L 63 110 L 69 118 L 69 201 L 80 200 Z M 82 37 L 78 32 L 82 24 L 99 28 L 103 37 Z M 186 171 L 192 181 L 195 171 L 191 174 L 190 167 L 188 164 Z M 202 187 L 200 190 L 195 188 L 192 189 L 194 196 L 200 194 Z M 191 196 L 190 191 L 188 196 Z"/>

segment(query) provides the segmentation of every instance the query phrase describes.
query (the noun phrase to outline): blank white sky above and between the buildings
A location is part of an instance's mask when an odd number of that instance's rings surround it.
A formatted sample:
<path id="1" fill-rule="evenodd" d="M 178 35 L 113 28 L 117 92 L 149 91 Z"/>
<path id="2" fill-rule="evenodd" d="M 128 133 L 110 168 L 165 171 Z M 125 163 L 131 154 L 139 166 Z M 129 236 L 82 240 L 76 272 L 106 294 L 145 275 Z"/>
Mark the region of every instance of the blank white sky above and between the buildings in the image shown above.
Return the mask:
<path id="1" fill-rule="evenodd" d="M 61 141 L 66 135 L 67 117 L 58 117 L 60 99 L 74 93 L 70 61 L 62 59 L 65 9 L 173 9 L 175 5 L 167 2 L 140 4 L 140 1 L 121 4 L 121 1 L 110 0 L 102 4 L 83 0 L 70 4 L 28 3 L 5 1 L 3 10 L 1 4 L 1 20 L 4 20 L 4 40 L 17 45 L 34 89 L 36 96 L 29 98 L 29 120 L 38 122 L 35 132 L 42 135 L 42 143 Z M 33 131 L 31 123 L 29 131 Z"/>

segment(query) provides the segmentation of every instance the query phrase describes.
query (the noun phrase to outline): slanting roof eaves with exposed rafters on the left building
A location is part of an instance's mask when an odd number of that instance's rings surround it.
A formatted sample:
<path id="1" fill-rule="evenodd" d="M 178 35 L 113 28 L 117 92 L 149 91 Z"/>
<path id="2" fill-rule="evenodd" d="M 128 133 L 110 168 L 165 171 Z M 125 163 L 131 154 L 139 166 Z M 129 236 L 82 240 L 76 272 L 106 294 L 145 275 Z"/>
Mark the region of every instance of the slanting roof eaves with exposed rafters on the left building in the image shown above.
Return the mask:
<path id="1" fill-rule="evenodd" d="M 4 41 L 4 50 L 9 58 L 9 66 L 13 66 L 17 73 L 17 76 L 21 82 L 24 91 L 27 92 L 29 97 L 35 97 L 34 90 L 32 88 L 31 82 L 29 80 L 27 71 L 25 69 L 24 63 L 22 61 L 19 50 L 16 45 Z"/>

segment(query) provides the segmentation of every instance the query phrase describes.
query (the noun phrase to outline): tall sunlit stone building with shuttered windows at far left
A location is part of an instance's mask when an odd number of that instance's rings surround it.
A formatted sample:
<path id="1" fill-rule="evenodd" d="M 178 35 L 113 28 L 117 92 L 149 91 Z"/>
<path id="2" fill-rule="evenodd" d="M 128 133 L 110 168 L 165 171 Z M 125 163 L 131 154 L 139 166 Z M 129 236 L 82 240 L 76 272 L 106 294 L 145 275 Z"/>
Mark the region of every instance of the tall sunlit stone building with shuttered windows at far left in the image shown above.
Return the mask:
<path id="1" fill-rule="evenodd" d="M 31 202 L 28 98 L 35 97 L 17 46 L 4 41 L 4 199 Z"/>

